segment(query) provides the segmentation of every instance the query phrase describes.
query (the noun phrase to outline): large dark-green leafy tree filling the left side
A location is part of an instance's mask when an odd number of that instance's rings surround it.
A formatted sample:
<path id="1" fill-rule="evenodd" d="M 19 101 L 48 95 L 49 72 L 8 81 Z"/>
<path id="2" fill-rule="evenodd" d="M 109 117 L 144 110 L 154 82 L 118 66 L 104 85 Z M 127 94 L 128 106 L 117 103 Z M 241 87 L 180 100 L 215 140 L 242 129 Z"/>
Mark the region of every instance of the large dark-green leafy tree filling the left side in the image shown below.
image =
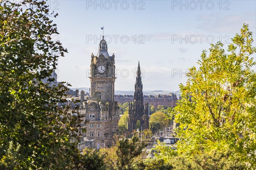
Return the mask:
<path id="1" fill-rule="evenodd" d="M 58 108 L 67 87 L 41 81 L 67 52 L 52 39 L 58 31 L 48 13 L 46 0 L 0 1 L 0 169 L 75 169 L 82 163 L 71 142 L 79 120 Z"/>

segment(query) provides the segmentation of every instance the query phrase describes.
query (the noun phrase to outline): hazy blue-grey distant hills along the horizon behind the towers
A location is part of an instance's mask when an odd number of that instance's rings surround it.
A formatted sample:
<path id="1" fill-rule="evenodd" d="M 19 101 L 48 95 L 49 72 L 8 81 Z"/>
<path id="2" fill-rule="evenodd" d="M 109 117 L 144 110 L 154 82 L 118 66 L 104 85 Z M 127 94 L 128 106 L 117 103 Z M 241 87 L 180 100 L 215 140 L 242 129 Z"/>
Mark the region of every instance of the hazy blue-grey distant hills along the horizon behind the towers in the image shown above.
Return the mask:
<path id="1" fill-rule="evenodd" d="M 89 93 L 89 88 L 70 88 L 73 91 L 76 91 L 76 89 L 79 90 L 79 92 L 81 90 L 83 90 L 84 92 L 88 92 Z M 179 96 L 180 91 L 163 91 L 163 90 L 155 90 L 155 91 L 143 91 L 144 95 L 158 95 L 158 94 L 169 94 L 169 93 L 176 93 L 177 96 Z M 115 94 L 129 94 L 129 95 L 134 95 L 134 91 L 119 91 L 119 90 L 115 90 Z"/>

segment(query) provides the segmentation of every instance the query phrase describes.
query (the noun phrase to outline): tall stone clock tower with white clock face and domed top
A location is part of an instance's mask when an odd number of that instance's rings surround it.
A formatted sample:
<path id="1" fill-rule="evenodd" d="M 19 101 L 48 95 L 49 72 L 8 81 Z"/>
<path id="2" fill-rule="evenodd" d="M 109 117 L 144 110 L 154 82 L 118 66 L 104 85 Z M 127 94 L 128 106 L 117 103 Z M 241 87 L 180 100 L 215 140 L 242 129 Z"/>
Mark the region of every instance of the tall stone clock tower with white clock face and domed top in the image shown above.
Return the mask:
<path id="1" fill-rule="evenodd" d="M 91 55 L 90 71 L 90 98 L 84 103 L 88 121 L 86 136 L 95 139 L 99 149 L 113 144 L 119 122 L 119 107 L 114 101 L 115 55 L 109 56 L 104 36 L 98 54 Z"/>

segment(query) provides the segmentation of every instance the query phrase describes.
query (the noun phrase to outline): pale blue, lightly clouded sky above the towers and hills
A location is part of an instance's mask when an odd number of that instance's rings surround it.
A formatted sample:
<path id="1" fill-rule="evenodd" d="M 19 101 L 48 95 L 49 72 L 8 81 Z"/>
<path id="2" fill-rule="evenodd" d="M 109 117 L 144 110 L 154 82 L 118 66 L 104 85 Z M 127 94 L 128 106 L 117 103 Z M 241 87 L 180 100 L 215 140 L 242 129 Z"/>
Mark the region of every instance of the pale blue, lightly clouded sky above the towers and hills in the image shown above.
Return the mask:
<path id="1" fill-rule="evenodd" d="M 91 54 L 103 34 L 115 54 L 115 90 L 134 90 L 140 61 L 143 90 L 177 91 L 202 50 L 221 41 L 225 48 L 249 24 L 256 40 L 255 0 L 51 0 L 59 40 L 68 53 L 58 59 L 58 81 L 90 87 Z M 255 46 L 255 42 L 253 44 Z M 256 56 L 252 56 L 256 58 Z M 253 68 L 254 69 L 254 68 Z"/>

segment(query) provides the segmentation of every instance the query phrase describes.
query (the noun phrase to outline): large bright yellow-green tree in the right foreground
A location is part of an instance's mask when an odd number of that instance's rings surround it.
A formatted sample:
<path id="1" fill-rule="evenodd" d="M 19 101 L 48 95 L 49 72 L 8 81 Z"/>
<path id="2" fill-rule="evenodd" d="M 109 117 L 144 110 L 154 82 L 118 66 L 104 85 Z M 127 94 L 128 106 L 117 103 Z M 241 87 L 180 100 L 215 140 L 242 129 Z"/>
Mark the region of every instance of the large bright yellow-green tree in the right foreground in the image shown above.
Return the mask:
<path id="1" fill-rule="evenodd" d="M 177 152 L 196 156 L 212 150 L 230 150 L 226 159 L 239 159 L 248 169 L 256 168 L 256 73 L 252 32 L 248 25 L 228 45 L 211 44 L 203 51 L 199 68 L 189 69 L 182 99 L 171 115 L 180 124 L 182 140 Z"/>

